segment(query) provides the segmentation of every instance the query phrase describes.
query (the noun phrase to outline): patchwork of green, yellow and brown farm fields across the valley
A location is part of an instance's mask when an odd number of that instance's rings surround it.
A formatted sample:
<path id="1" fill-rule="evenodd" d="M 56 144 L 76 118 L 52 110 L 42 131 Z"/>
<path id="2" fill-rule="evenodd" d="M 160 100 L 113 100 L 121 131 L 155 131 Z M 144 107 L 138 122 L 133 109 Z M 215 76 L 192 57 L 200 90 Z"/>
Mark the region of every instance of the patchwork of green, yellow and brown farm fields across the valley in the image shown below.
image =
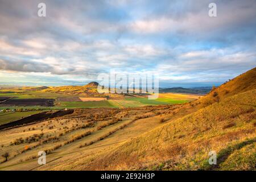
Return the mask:
<path id="1" fill-rule="evenodd" d="M 0 90 L 0 110 L 26 110 L 26 112 L 0 115 L 1 123 L 7 123 L 36 114 L 38 111 L 63 110 L 76 108 L 126 108 L 150 105 L 182 104 L 198 98 L 197 95 L 160 93 L 157 100 L 148 100 L 147 96 L 130 94 L 109 94 L 99 97 L 97 84 L 88 86 L 62 87 L 18 87 Z M 66 90 L 65 90 L 66 89 Z M 86 93 L 86 97 L 85 94 Z M 90 97 L 88 97 L 90 96 Z"/>

